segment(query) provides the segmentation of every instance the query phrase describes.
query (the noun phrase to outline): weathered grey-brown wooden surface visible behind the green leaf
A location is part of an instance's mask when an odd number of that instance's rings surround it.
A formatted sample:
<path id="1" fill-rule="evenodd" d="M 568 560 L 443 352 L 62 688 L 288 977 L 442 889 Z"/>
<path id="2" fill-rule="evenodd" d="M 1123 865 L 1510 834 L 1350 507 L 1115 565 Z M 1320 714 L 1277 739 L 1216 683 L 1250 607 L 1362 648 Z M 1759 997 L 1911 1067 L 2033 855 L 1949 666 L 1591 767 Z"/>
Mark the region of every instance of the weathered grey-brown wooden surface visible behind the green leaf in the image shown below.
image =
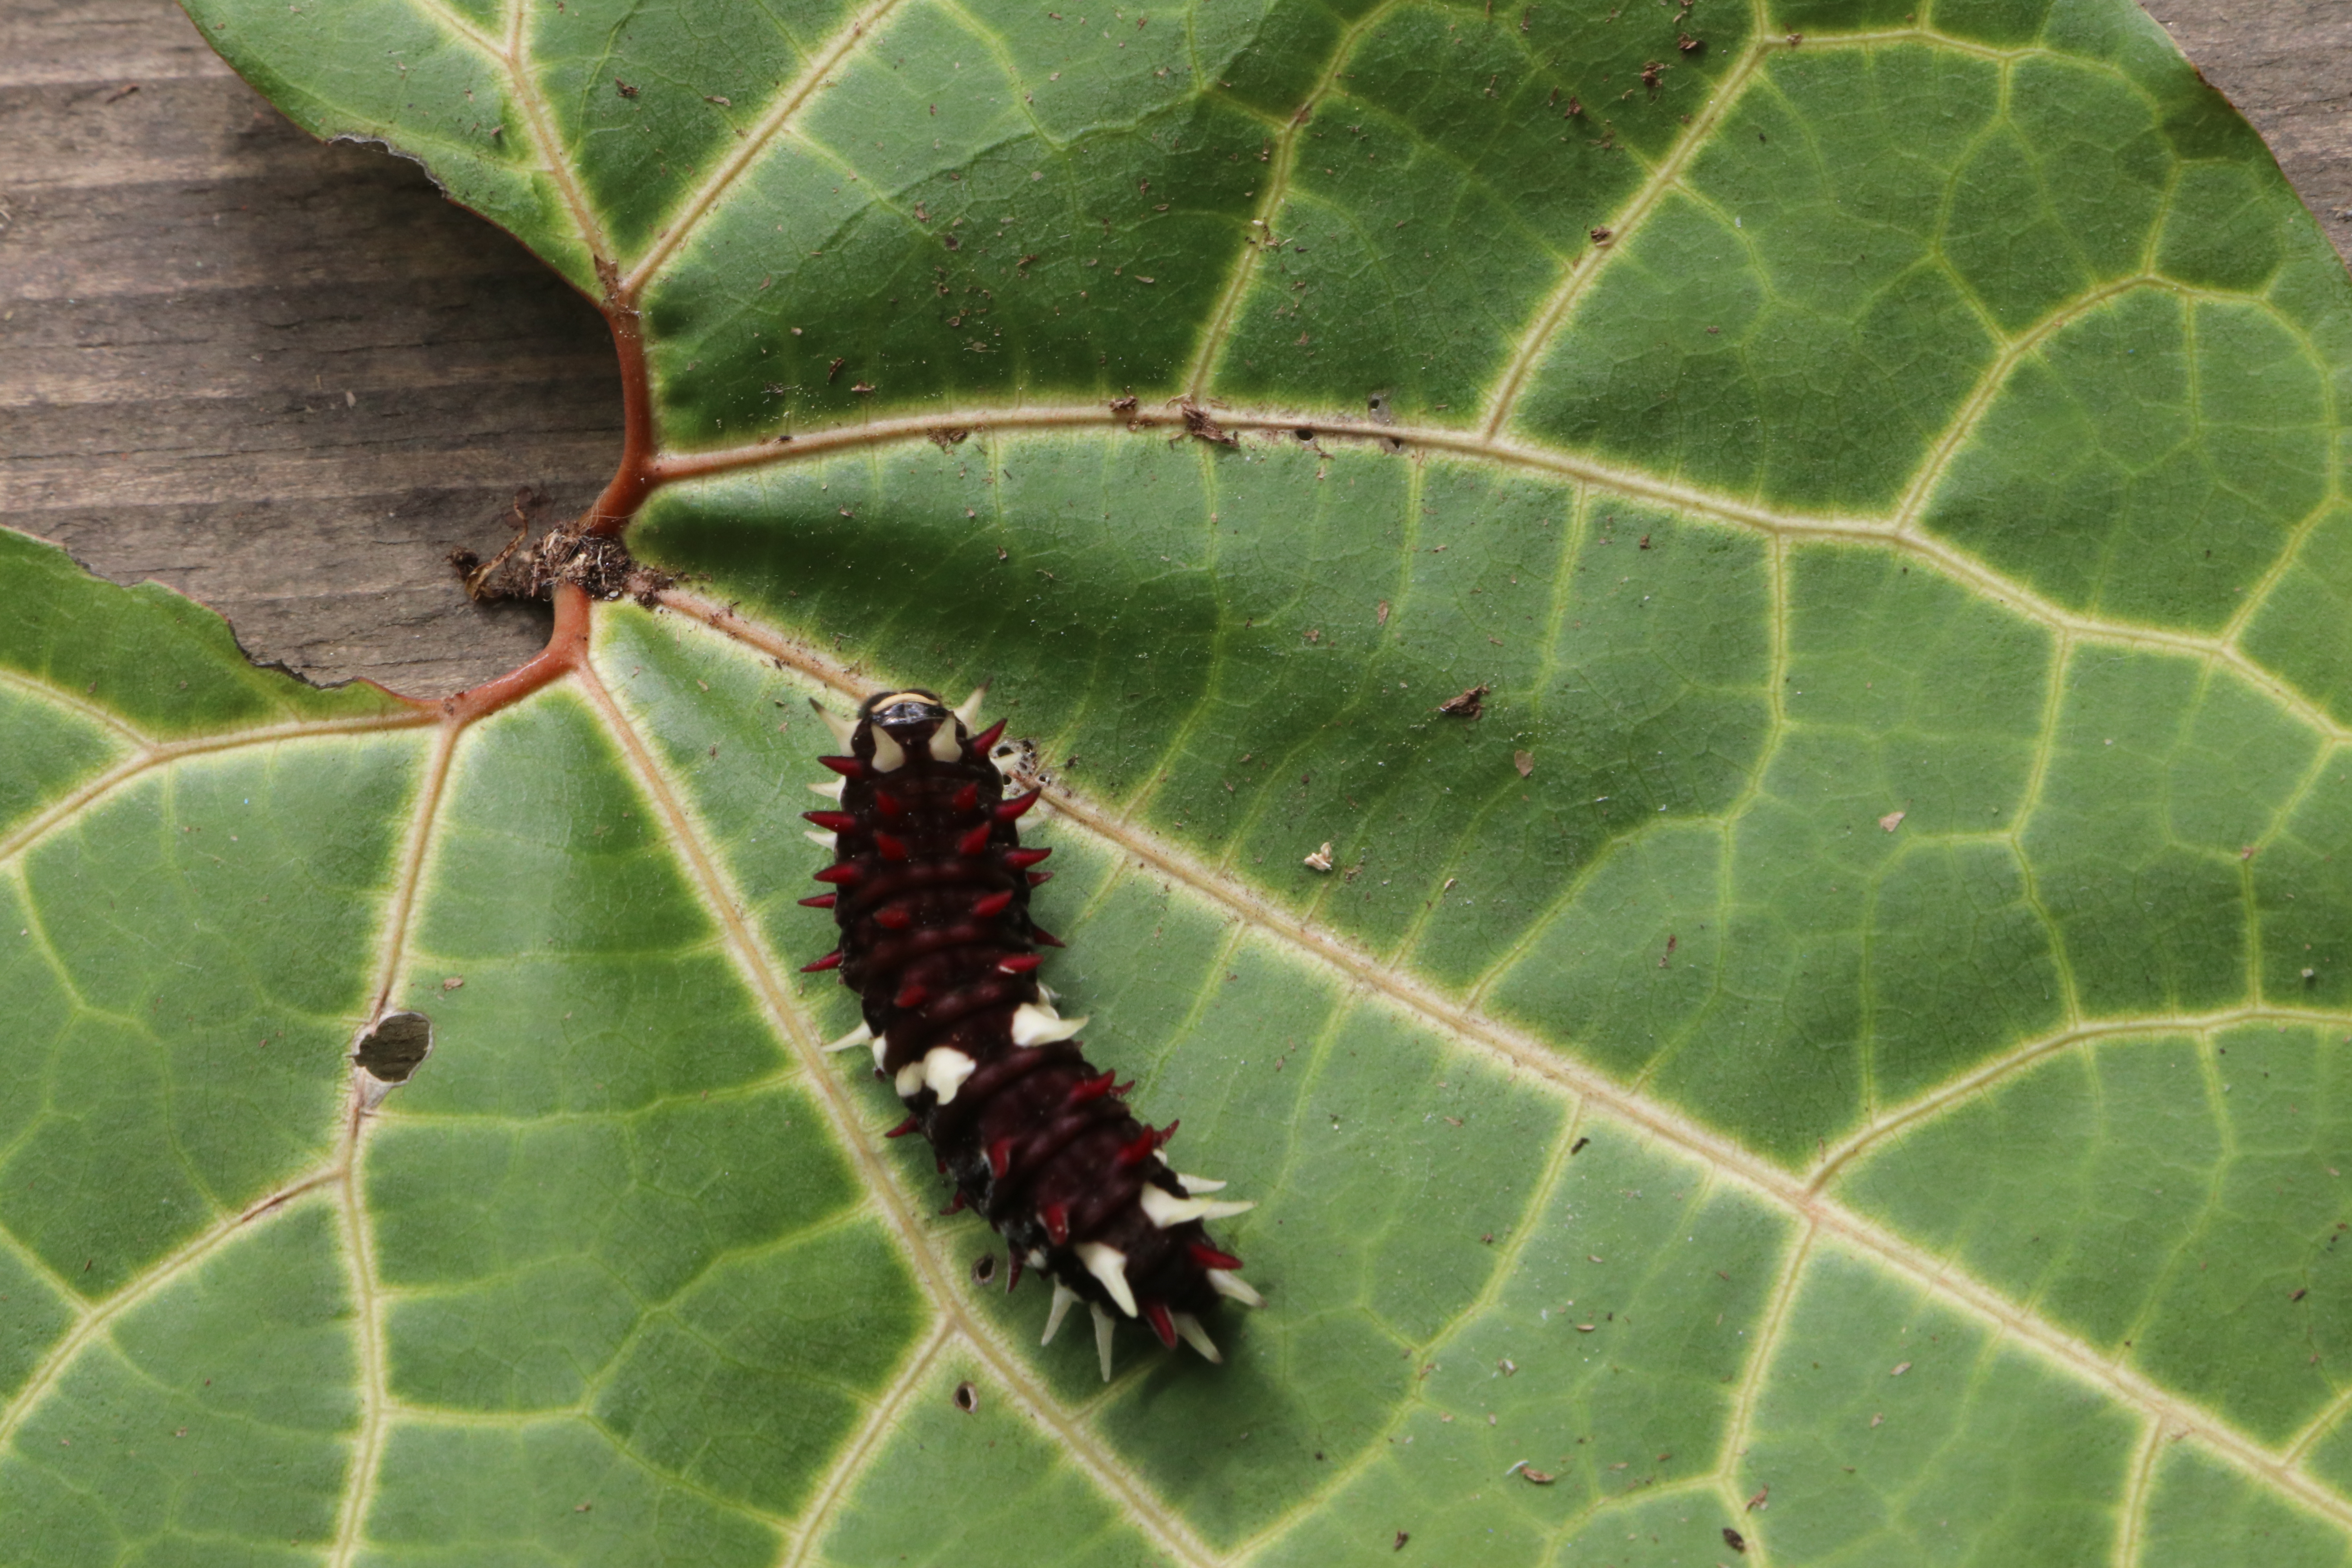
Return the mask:
<path id="1" fill-rule="evenodd" d="M 2352 256 L 2352 2 L 2150 9 Z M 421 169 L 296 132 L 169 0 L 0 0 L 9 527 L 437 696 L 546 637 L 447 552 L 506 543 L 517 489 L 583 508 L 619 433 L 597 313 Z"/>

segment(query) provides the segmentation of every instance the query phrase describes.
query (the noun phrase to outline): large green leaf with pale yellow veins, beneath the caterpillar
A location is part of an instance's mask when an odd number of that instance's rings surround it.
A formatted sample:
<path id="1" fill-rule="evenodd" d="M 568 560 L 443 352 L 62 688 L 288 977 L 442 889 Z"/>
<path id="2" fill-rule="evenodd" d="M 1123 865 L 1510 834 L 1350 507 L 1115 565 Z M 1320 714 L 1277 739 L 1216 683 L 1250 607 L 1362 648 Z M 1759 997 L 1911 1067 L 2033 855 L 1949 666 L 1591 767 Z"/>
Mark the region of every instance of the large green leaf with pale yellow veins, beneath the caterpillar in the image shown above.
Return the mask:
<path id="1" fill-rule="evenodd" d="M 188 9 L 675 585 L 0 534 L 0 1563 L 2352 1563 L 2352 282 L 2129 0 Z M 821 1051 L 802 698 L 981 679 L 1223 1366 Z"/>

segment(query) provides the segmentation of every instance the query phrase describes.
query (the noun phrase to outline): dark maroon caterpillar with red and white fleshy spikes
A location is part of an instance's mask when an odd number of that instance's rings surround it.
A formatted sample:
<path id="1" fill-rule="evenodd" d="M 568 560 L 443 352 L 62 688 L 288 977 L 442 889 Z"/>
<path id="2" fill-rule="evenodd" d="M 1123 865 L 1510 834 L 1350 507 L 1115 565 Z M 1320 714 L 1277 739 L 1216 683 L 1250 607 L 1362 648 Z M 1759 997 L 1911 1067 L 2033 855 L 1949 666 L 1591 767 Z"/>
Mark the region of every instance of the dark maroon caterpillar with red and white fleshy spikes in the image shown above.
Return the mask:
<path id="1" fill-rule="evenodd" d="M 993 752 L 1004 722 L 971 733 L 985 686 L 950 710 L 929 691 L 880 691 L 856 722 L 811 708 L 847 757 L 818 757 L 837 780 L 809 785 L 840 811 L 809 811 L 809 837 L 835 860 L 816 872 L 833 891 L 800 903 L 833 910 L 837 950 L 807 973 L 840 969 L 866 1023 L 826 1046 L 873 1046 L 910 1114 L 889 1135 L 920 1131 L 955 1180 L 948 1213 L 971 1206 L 1011 1248 L 1007 1291 L 1023 1260 L 1054 1276 L 1044 1342 L 1070 1302 L 1094 1312 L 1110 1380 L 1108 1307 L 1143 1319 L 1169 1349 L 1185 1340 L 1223 1361 L 1202 1328 L 1218 1298 L 1261 1305 L 1202 1220 L 1251 1204 L 1200 1197 L 1225 1182 L 1178 1175 L 1160 1159 L 1176 1124 L 1129 1114 L 1112 1072 L 1096 1072 L 1037 983 L 1037 947 L 1061 947 L 1028 912 L 1030 870 L 1051 849 L 1021 849 L 1014 823 L 1037 790 L 1004 799 Z M 1011 750 L 1011 748 L 1007 748 Z"/>

